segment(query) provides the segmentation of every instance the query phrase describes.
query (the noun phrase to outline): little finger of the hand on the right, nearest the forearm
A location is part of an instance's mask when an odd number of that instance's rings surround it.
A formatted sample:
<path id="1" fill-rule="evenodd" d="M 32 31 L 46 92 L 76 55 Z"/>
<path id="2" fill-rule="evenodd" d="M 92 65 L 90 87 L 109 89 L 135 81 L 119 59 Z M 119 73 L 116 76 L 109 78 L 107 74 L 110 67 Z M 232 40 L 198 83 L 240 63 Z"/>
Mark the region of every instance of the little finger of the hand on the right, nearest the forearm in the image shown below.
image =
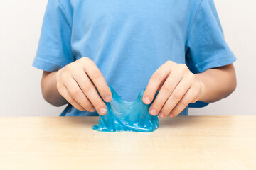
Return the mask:
<path id="1" fill-rule="evenodd" d="M 187 93 L 181 98 L 181 101 L 179 101 L 176 106 L 171 110 L 169 113 L 169 117 L 173 118 L 177 116 L 181 111 L 183 111 L 186 106 L 188 106 L 189 103 L 195 103 L 198 101 L 200 94 L 200 89 L 196 87 L 191 87 L 191 89 L 188 89 Z"/>

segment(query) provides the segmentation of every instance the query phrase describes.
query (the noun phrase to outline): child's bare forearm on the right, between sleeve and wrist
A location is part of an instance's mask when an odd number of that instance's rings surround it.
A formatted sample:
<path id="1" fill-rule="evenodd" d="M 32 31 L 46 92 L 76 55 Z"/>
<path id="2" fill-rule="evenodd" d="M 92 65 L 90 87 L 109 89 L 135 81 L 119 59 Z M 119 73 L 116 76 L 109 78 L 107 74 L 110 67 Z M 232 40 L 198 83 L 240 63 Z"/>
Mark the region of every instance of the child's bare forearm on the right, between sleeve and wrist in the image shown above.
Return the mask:
<path id="1" fill-rule="evenodd" d="M 202 91 L 198 101 L 215 102 L 229 96 L 236 87 L 235 69 L 233 64 L 196 74 L 201 82 Z"/>

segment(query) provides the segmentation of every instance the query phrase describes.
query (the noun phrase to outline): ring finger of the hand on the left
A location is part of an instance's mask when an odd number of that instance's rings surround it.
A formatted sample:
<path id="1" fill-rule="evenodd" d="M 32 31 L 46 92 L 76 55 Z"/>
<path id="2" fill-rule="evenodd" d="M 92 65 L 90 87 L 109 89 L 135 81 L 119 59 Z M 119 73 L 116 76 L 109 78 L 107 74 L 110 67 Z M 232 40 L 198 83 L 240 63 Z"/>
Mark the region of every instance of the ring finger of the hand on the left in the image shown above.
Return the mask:
<path id="1" fill-rule="evenodd" d="M 77 82 L 74 79 L 68 79 L 65 84 L 65 88 L 68 90 L 70 96 L 80 104 L 87 111 L 93 112 L 95 108 L 92 106 L 92 103 L 88 98 L 83 94 L 82 90 L 78 86 Z M 84 111 L 84 110 L 83 110 Z"/>

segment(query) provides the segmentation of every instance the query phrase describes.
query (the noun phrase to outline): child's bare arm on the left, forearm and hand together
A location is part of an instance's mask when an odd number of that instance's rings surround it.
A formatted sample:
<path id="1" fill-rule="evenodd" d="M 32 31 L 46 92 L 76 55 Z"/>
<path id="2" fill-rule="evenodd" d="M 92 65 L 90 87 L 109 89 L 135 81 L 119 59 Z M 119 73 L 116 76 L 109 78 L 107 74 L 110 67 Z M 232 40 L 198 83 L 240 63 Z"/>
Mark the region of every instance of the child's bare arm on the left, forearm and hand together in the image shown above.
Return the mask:
<path id="1" fill-rule="evenodd" d="M 93 112 L 96 109 L 105 115 L 106 106 L 96 88 L 106 102 L 112 100 L 100 69 L 87 57 L 68 64 L 58 72 L 43 72 L 41 80 L 43 98 L 54 106 L 69 102 L 80 111 Z"/>

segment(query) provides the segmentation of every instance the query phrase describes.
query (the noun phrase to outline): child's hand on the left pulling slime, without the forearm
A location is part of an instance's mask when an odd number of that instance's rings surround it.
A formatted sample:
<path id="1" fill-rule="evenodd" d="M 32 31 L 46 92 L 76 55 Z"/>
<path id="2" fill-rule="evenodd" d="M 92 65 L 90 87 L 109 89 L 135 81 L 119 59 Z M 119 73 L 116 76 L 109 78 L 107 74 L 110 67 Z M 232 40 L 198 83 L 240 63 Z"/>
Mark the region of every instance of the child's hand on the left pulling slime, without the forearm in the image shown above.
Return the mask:
<path id="1" fill-rule="evenodd" d="M 112 94 L 100 69 L 88 57 L 82 57 L 60 69 L 57 74 L 58 92 L 80 111 L 94 112 L 105 115 L 106 101 L 112 100 Z M 97 93 L 97 90 L 100 93 Z"/>

